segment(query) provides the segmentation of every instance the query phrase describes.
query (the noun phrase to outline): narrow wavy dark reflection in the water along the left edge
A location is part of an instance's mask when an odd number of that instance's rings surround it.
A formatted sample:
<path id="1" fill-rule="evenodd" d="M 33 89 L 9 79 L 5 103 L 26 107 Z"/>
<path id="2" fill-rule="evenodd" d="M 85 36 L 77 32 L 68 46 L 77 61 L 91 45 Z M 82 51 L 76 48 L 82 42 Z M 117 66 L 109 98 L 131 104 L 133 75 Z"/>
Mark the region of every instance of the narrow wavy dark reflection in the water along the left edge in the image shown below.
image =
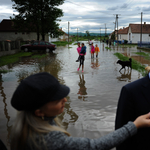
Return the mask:
<path id="1" fill-rule="evenodd" d="M 9 126 L 9 121 L 10 121 L 10 116 L 8 115 L 8 110 L 7 110 L 7 103 L 6 103 L 6 94 L 4 93 L 4 87 L 2 85 L 3 81 L 2 81 L 2 75 L 0 74 L 0 94 L 3 98 L 3 103 L 4 103 L 4 114 L 5 114 L 5 117 L 7 119 L 7 123 L 6 123 L 6 127 L 7 127 L 7 138 L 6 138 L 6 141 L 7 141 L 7 145 L 10 145 L 10 131 L 11 131 L 11 127 L 12 126 Z"/>

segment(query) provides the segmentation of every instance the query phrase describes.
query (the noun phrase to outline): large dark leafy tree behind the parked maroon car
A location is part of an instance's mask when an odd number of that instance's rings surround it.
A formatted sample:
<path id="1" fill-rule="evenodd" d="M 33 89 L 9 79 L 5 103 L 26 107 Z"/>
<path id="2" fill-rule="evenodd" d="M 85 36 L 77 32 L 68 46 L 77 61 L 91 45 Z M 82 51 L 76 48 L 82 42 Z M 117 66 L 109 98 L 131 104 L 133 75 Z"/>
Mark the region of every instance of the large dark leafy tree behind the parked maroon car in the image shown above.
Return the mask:
<path id="1" fill-rule="evenodd" d="M 64 0 L 12 0 L 15 2 L 13 9 L 19 14 L 11 18 L 15 27 L 19 30 L 31 30 L 37 33 L 37 40 L 40 35 L 45 40 L 45 35 L 59 35 L 59 21 L 63 16 L 61 9 L 57 6 L 62 5 Z"/>

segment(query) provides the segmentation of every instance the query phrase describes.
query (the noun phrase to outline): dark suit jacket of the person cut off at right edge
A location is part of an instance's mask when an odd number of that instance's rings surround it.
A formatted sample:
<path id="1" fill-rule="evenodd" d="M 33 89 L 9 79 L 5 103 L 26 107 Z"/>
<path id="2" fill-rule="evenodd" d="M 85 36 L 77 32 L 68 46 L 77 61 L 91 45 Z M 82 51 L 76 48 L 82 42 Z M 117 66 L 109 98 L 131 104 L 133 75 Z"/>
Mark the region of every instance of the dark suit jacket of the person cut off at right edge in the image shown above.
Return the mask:
<path id="1" fill-rule="evenodd" d="M 149 112 L 150 79 L 147 75 L 122 88 L 118 101 L 115 129 Z M 150 150 L 150 128 L 138 129 L 138 133 L 118 146 L 117 150 Z"/>

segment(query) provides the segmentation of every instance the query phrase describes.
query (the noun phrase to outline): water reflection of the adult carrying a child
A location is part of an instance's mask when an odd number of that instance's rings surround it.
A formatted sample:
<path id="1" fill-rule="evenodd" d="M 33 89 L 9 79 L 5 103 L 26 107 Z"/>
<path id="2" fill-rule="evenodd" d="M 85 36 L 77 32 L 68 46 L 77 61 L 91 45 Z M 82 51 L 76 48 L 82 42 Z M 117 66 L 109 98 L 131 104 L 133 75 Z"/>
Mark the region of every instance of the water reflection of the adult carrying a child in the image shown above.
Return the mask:
<path id="1" fill-rule="evenodd" d="M 78 96 L 78 99 L 86 101 L 86 98 L 87 98 L 87 96 L 86 96 L 87 95 L 86 90 L 87 90 L 87 88 L 85 86 L 86 82 L 84 80 L 84 74 L 82 74 L 82 75 L 79 74 L 79 79 L 80 79 L 80 81 L 78 83 L 78 85 L 79 85 L 79 91 L 78 91 L 77 94 L 79 94 L 80 96 Z"/>

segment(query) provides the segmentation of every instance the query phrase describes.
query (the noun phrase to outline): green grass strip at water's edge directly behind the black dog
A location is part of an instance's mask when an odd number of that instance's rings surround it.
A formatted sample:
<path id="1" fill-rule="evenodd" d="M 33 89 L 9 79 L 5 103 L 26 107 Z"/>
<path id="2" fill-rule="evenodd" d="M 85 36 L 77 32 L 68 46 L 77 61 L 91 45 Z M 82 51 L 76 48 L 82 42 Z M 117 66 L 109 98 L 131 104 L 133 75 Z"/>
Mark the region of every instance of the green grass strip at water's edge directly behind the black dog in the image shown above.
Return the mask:
<path id="1" fill-rule="evenodd" d="M 123 54 L 114 53 L 114 55 L 117 56 L 122 61 L 129 61 L 129 58 L 124 56 Z M 141 63 L 132 58 L 132 68 L 139 71 L 143 76 L 147 74 L 145 67 L 146 67 L 145 65 L 142 65 Z"/>

